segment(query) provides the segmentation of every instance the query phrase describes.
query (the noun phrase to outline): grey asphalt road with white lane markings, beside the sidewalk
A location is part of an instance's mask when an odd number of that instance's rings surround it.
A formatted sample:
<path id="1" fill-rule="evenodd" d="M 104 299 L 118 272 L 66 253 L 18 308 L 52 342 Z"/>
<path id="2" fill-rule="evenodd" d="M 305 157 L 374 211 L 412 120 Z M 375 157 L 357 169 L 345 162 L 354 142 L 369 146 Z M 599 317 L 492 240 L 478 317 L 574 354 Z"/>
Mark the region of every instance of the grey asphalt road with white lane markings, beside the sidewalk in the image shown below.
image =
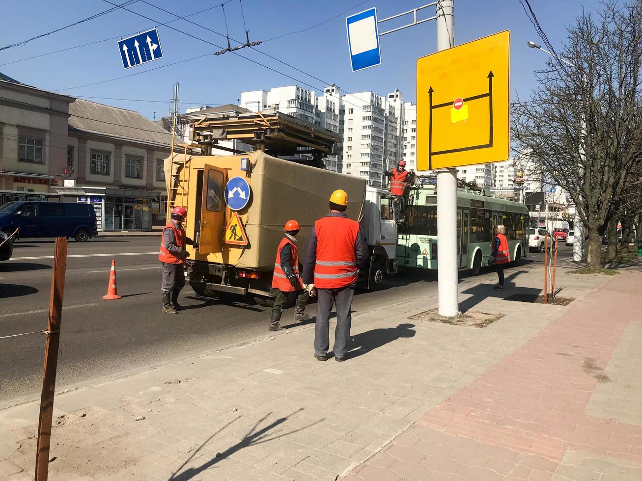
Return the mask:
<path id="1" fill-rule="evenodd" d="M 56 387 L 82 383 L 143 368 L 266 334 L 269 309 L 246 302 L 224 303 L 195 296 L 186 287 L 186 310 L 162 314 L 158 237 L 96 238 L 69 241 L 58 377 Z M 13 258 L 0 263 L 0 337 L 46 328 L 51 288 L 53 241 L 15 244 Z M 566 249 L 566 257 L 571 248 Z M 531 254 L 526 262 L 541 262 Z M 105 301 L 112 259 L 118 293 Z M 496 279 L 462 275 L 476 284 Z M 437 294 L 437 274 L 402 274 L 379 292 L 355 297 L 356 312 L 385 307 L 417 296 Z M 315 307 L 308 307 L 314 312 Z M 284 314 L 293 325 L 293 310 Z M 0 403 L 36 397 L 42 378 L 44 337 L 39 334 L 0 339 Z"/>

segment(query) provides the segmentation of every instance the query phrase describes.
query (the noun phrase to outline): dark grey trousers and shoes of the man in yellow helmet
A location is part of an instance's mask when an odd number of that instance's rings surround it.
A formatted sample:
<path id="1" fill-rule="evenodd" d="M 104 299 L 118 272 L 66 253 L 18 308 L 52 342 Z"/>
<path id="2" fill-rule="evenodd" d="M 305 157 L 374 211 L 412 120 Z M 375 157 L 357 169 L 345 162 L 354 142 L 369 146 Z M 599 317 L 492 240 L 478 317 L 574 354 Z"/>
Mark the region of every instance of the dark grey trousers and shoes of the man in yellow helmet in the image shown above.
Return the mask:
<path id="1" fill-rule="evenodd" d="M 350 344 L 352 324 L 353 287 L 341 289 L 317 289 L 317 323 L 315 324 L 315 353 L 324 356 L 330 348 L 330 314 L 336 304 L 336 328 L 334 329 L 334 357 L 345 357 Z"/>

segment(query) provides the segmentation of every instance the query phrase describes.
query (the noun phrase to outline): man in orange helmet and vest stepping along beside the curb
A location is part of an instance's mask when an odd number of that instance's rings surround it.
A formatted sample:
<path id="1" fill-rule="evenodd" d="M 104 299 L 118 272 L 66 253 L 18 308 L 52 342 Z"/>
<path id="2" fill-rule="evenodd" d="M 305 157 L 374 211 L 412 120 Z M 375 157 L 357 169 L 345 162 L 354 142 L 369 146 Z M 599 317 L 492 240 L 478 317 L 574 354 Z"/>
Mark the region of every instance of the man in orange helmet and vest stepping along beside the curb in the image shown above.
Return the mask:
<path id="1" fill-rule="evenodd" d="M 301 226 L 297 221 L 291 220 L 285 224 L 285 236 L 277 249 L 277 259 L 274 264 L 272 287 L 277 289 L 272 307 L 270 330 L 281 330 L 281 316 L 283 309 L 291 302 L 294 294 L 297 296 L 294 320 L 303 322 L 312 319 L 306 314 L 309 292 L 303 288 L 299 275 L 299 251 L 297 249 L 297 234 Z"/>

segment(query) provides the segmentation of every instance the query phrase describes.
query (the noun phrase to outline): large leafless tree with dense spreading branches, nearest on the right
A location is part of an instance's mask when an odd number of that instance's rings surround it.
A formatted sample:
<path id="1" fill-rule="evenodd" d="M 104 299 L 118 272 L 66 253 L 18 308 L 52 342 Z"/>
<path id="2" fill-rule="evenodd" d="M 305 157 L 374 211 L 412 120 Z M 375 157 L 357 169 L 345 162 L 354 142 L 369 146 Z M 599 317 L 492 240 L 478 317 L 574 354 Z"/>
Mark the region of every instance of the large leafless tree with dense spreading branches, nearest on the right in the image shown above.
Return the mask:
<path id="1" fill-rule="evenodd" d="M 588 232 L 587 267 L 600 267 L 602 233 L 627 173 L 642 162 L 642 0 L 578 17 L 539 87 L 513 106 L 516 150 L 567 190 Z"/>

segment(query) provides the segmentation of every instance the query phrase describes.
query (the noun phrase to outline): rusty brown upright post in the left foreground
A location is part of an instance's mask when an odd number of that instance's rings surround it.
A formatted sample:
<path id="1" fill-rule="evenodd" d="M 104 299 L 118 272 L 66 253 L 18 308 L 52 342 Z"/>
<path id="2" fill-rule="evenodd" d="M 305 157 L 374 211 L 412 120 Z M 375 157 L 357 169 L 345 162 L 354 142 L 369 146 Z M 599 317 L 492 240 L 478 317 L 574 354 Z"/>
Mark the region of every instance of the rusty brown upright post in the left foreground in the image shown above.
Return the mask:
<path id="1" fill-rule="evenodd" d="M 56 367 L 60 344 L 60 319 L 62 296 L 65 290 L 67 269 L 67 239 L 56 237 L 51 274 L 51 298 L 49 300 L 49 322 L 42 369 L 42 395 L 40 396 L 40 419 L 38 422 L 38 449 L 36 451 L 35 481 L 47 481 L 49 469 L 49 445 L 51 443 L 51 419 L 53 418 L 53 394 L 56 389 Z"/>

